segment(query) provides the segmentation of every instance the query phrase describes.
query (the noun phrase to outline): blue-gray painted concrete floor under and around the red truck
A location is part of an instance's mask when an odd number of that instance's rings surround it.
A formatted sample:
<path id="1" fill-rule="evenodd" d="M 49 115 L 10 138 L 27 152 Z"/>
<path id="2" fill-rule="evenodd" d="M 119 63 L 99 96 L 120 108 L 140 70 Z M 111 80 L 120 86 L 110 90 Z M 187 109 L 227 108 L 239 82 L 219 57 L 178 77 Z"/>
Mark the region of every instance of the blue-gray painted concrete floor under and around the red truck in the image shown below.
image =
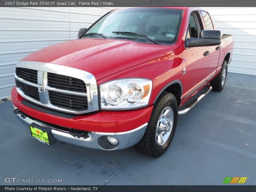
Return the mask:
<path id="1" fill-rule="evenodd" d="M 245 184 L 255 185 L 255 82 L 256 76 L 228 73 L 222 92 L 210 92 L 186 116 L 179 116 L 170 148 L 157 159 L 134 148 L 100 151 L 59 142 L 46 146 L 30 137 L 28 127 L 12 113 L 11 101 L 4 101 L 0 184 L 16 177 L 62 179 L 64 185 L 221 185 L 225 177 L 248 177 Z"/>

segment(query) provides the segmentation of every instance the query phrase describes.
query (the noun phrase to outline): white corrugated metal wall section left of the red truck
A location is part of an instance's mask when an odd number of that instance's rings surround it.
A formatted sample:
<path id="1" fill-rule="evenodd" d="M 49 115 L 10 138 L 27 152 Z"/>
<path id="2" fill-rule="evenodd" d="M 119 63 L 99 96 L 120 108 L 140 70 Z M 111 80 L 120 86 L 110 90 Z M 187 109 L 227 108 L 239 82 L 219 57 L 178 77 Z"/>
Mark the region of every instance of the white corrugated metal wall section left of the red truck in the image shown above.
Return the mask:
<path id="1" fill-rule="evenodd" d="M 76 39 L 114 7 L 0 7 L 0 99 L 10 97 L 15 64 L 46 46 Z"/>

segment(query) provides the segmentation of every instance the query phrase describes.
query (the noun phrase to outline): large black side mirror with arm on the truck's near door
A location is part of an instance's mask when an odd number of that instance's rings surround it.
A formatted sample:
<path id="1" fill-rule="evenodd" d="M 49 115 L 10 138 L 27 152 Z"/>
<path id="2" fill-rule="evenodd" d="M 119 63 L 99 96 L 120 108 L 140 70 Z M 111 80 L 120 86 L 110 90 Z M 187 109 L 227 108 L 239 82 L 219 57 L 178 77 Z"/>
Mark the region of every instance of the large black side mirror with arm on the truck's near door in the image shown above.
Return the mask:
<path id="1" fill-rule="evenodd" d="M 186 47 L 203 47 L 220 45 L 221 32 L 219 30 L 202 30 L 200 38 L 187 38 L 185 42 Z"/>

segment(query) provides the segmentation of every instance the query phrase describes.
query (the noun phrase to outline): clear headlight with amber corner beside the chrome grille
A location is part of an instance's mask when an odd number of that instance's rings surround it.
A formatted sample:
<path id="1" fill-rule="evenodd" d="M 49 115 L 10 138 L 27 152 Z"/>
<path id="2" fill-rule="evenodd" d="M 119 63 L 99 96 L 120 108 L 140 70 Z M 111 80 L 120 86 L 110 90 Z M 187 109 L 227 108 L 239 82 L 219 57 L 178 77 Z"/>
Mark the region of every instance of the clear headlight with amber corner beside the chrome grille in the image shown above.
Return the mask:
<path id="1" fill-rule="evenodd" d="M 132 109 L 148 105 L 149 79 L 118 79 L 100 85 L 101 109 Z"/>

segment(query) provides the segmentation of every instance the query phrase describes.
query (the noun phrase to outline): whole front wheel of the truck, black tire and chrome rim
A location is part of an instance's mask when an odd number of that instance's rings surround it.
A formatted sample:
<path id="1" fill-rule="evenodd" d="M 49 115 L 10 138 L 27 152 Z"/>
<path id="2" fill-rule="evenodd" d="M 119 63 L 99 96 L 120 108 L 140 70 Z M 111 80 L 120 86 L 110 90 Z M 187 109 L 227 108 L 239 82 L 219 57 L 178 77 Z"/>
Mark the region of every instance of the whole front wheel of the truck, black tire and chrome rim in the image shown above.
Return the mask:
<path id="1" fill-rule="evenodd" d="M 143 138 L 136 149 L 149 157 L 159 157 L 169 148 L 178 118 L 178 104 L 175 96 L 163 92 L 154 104 Z"/>

